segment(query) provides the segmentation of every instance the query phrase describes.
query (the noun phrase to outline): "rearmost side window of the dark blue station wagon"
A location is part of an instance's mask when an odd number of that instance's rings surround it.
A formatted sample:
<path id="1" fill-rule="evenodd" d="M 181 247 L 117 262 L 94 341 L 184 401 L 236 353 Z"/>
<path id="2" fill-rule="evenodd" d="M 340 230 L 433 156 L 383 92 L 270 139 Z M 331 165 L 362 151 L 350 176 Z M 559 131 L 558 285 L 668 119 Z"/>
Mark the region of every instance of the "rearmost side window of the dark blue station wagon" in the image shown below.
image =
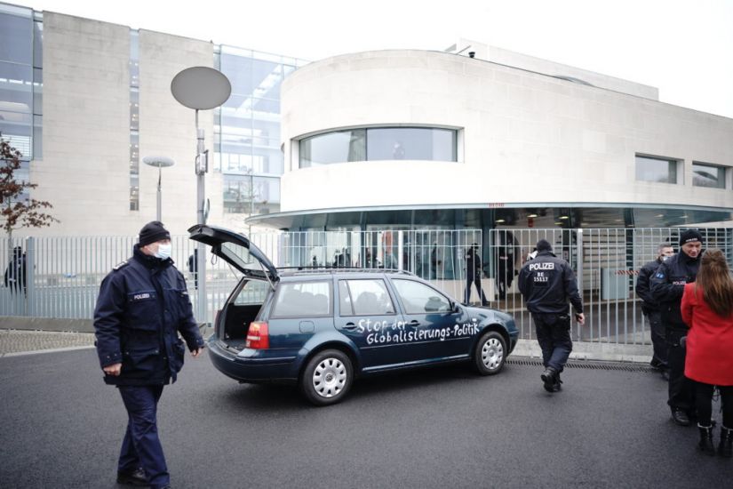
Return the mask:
<path id="1" fill-rule="evenodd" d="M 272 316 L 331 316 L 331 283 L 294 282 L 281 284 L 278 287 Z"/>

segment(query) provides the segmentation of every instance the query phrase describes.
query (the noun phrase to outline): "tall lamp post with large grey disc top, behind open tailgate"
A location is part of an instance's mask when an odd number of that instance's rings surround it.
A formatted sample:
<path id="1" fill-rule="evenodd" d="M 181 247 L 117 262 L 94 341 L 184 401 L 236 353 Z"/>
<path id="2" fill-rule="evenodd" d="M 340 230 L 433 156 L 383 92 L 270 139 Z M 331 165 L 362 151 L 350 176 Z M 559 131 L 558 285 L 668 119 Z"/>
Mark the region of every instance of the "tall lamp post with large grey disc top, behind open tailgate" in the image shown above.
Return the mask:
<path id="1" fill-rule="evenodd" d="M 220 71 L 203 66 L 186 68 L 173 77 L 171 93 L 173 98 L 187 108 L 195 109 L 196 126 L 196 217 L 197 223 L 206 224 L 204 173 L 209 170 L 209 151 L 204 149 L 203 129 L 198 127 L 198 111 L 217 108 L 229 98 L 232 85 Z M 196 247 L 196 271 L 198 273 L 197 309 L 199 322 L 206 323 L 208 296 L 206 295 L 206 261 L 203 243 Z"/>

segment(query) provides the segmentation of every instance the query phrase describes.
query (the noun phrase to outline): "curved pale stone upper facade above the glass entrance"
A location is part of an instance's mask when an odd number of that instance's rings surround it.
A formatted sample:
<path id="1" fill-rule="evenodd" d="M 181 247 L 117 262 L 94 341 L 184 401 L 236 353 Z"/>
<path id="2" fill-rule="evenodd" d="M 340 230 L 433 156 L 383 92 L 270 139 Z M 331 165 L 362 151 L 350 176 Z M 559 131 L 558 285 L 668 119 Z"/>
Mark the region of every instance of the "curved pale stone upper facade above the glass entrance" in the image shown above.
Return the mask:
<path id="1" fill-rule="evenodd" d="M 486 60 L 345 54 L 289 76 L 282 107 L 283 212 L 530 203 L 733 208 L 733 120 Z M 458 163 L 298 170 L 299 138 L 375 125 L 457 129 Z M 636 180 L 636 155 L 679 160 L 678 183 Z M 692 186 L 693 162 L 728 166 L 728 188 Z"/>

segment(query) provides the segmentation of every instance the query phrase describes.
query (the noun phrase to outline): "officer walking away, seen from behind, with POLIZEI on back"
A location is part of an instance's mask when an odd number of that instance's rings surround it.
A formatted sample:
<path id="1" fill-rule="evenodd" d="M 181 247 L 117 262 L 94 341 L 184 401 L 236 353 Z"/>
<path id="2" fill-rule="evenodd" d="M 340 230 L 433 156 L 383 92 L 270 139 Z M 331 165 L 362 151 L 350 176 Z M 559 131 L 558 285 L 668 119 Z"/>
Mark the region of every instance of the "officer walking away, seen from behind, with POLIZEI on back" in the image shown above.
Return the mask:
<path id="1" fill-rule="evenodd" d="M 547 392 L 561 389 L 560 373 L 573 349 L 570 340 L 570 307 L 583 324 L 583 300 L 578 293 L 578 281 L 570 263 L 558 258 L 552 246 L 540 239 L 537 256 L 527 261 L 519 272 L 519 290 L 532 314 L 537 330 L 537 341 L 542 349 L 545 372 L 540 376 Z"/>

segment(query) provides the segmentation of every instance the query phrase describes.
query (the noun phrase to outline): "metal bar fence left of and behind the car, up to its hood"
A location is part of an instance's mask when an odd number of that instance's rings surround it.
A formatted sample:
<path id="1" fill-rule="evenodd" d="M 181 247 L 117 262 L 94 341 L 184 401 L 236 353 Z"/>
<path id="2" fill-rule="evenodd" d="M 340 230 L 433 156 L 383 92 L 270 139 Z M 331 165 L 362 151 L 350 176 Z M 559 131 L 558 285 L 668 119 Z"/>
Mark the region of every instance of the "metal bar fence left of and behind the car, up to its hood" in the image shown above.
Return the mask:
<path id="1" fill-rule="evenodd" d="M 462 250 L 481 244 L 481 231 L 291 232 L 250 238 L 277 267 L 407 269 L 460 297 Z M 92 318 L 102 279 L 131 256 L 136 241 L 137 236 L 0 240 L 0 266 L 9 277 L 0 287 L 0 316 Z M 196 243 L 187 236 L 171 236 L 171 243 L 172 259 L 187 278 L 196 317 L 211 323 L 241 276 L 207 251 L 206 307 L 199 308 L 200 278 L 189 261 Z"/>

